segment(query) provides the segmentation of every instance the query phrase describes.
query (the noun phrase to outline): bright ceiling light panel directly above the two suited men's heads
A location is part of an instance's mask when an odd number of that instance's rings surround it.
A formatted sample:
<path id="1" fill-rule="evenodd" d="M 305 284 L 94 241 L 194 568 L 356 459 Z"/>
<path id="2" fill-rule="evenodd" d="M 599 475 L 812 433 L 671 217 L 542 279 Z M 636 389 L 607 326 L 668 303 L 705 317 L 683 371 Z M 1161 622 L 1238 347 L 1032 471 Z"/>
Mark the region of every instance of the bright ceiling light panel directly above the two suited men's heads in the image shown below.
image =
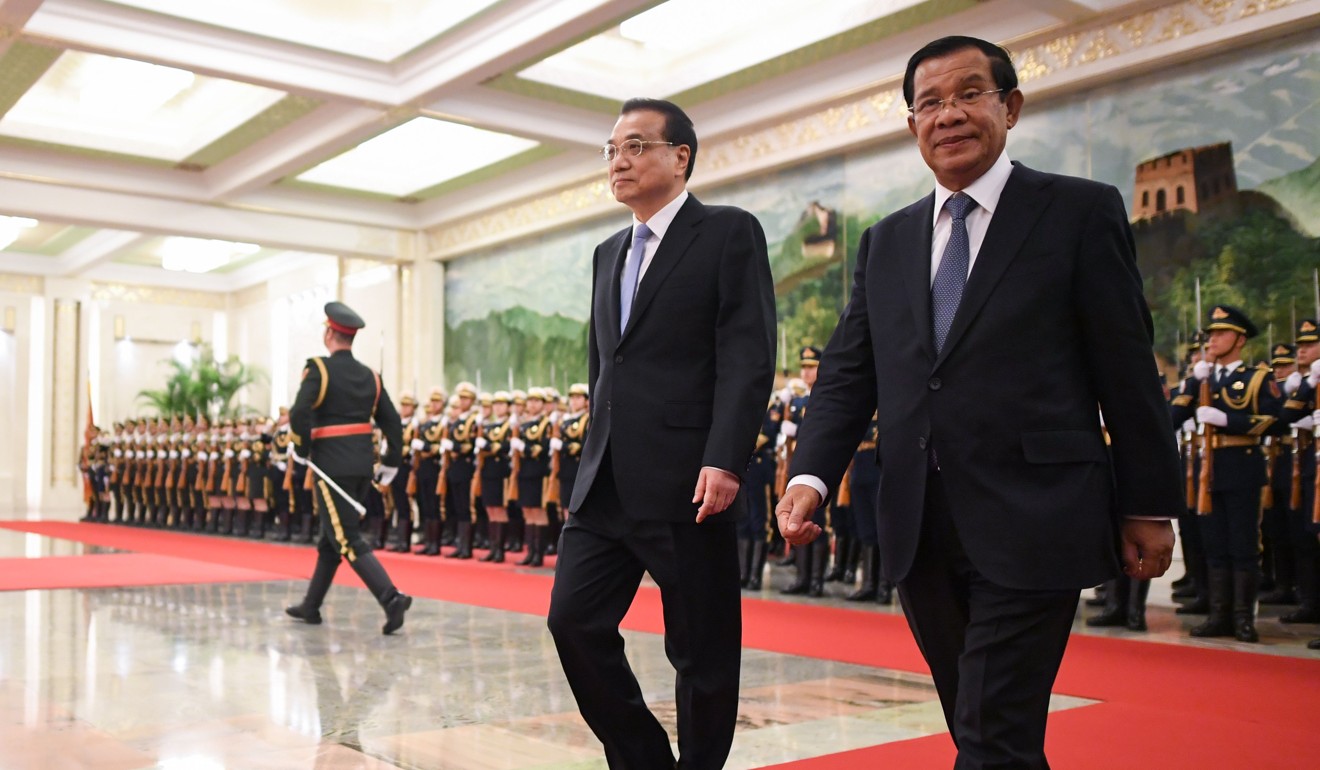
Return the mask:
<path id="1" fill-rule="evenodd" d="M 925 0 L 669 0 L 519 73 L 611 99 L 668 96 Z"/>

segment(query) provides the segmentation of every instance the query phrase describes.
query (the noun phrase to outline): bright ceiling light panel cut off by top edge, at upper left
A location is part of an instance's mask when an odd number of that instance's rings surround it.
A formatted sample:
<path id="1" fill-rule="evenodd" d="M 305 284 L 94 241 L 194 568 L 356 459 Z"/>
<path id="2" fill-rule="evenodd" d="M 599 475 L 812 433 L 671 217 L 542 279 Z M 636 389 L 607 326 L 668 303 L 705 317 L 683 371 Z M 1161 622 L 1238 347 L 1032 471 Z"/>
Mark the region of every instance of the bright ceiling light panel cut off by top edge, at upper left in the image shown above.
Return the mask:
<path id="1" fill-rule="evenodd" d="M 499 0 L 114 1 L 309 48 L 391 62 Z"/>

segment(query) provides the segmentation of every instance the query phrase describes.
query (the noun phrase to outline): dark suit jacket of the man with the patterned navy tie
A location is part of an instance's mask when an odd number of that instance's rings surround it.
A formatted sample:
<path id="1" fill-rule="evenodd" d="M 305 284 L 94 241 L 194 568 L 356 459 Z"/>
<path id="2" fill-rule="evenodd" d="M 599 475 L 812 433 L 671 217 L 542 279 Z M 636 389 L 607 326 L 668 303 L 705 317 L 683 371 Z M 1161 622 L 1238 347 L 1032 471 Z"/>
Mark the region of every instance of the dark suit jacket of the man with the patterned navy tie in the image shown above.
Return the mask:
<path id="1" fill-rule="evenodd" d="M 983 576 L 1020 589 L 1107 580 L 1121 516 L 1173 518 L 1183 507 L 1118 190 L 1015 164 L 940 355 L 933 206 L 927 197 L 862 235 L 792 473 L 837 485 L 876 407 L 888 580 L 912 565 L 932 448 Z"/>

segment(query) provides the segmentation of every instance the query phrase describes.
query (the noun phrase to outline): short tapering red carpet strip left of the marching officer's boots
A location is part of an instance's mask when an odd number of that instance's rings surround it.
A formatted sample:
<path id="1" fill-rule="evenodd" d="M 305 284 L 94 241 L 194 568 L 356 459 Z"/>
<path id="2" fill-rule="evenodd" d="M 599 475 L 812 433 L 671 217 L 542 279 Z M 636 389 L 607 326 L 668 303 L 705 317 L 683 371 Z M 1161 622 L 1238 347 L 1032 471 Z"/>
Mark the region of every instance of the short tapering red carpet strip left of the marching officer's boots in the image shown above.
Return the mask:
<path id="1" fill-rule="evenodd" d="M 46 556 L 44 559 L 0 559 L 0 590 L 255 582 L 284 578 L 285 576 L 273 572 L 259 572 L 156 553 L 88 553 L 86 556 Z"/>

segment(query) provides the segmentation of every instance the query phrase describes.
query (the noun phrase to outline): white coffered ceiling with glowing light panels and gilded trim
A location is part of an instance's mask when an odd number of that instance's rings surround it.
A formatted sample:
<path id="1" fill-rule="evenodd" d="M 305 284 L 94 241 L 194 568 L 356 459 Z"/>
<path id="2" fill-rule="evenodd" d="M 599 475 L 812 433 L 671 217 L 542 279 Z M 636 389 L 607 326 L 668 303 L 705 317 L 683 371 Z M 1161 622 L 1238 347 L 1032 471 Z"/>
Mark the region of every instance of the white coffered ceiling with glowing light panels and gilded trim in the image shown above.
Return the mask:
<path id="1" fill-rule="evenodd" d="M 309 255 L 413 259 L 418 232 L 602 174 L 627 96 L 731 140 L 894 81 L 942 34 L 1039 41 L 1168 4 L 0 0 L 0 272 L 238 291 Z"/>

